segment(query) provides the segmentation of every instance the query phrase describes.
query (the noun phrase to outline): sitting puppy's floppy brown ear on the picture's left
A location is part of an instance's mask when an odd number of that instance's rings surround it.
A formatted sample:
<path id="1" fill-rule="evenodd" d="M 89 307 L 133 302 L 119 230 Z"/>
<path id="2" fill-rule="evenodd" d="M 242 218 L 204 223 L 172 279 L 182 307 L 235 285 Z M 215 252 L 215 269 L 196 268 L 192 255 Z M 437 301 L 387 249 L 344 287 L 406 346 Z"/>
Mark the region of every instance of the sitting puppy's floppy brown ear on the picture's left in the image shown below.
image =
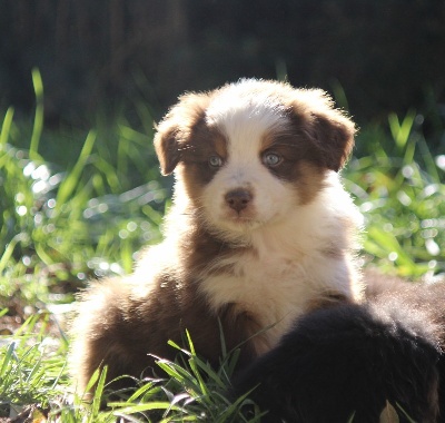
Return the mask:
<path id="1" fill-rule="evenodd" d="M 186 94 L 157 126 L 155 150 L 162 175 L 170 175 L 181 160 L 181 150 L 187 148 L 195 126 L 205 117 L 209 96 Z"/>

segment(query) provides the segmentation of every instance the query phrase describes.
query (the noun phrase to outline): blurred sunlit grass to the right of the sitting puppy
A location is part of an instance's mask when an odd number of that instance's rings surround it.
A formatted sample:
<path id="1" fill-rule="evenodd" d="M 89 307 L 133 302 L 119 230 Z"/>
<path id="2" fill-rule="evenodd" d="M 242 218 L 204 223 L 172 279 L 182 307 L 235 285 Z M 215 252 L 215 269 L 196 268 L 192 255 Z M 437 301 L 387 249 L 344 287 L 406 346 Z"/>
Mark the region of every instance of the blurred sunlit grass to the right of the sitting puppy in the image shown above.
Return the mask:
<path id="1" fill-rule="evenodd" d="M 374 130 L 368 155 L 353 158 L 345 173 L 365 216 L 364 256 L 406 277 L 444 273 L 444 156 L 431 151 L 413 111 L 388 121 L 392 137 Z"/>

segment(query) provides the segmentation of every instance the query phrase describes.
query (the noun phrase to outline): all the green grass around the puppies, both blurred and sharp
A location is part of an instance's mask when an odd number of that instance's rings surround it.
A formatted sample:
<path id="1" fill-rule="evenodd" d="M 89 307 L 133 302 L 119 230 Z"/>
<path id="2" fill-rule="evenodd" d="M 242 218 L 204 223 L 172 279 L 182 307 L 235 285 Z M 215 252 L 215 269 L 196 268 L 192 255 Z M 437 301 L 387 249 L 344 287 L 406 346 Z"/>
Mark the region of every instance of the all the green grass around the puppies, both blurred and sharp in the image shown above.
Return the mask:
<path id="1" fill-rule="evenodd" d="M 66 311 L 88 278 L 131 270 L 135 253 L 160 239 L 171 180 L 159 177 L 152 115 L 101 119 L 82 131 L 43 126 L 43 88 L 33 72 L 31 122 L 2 116 L 0 132 L 0 417 L 18 412 L 60 422 L 255 422 L 225 392 L 236 354 L 216 372 L 194 352 L 159 365 L 167 381 L 139 381 L 112 400 L 103 375 L 91 404 L 72 394 L 66 367 Z M 435 134 L 445 136 L 445 125 Z M 360 130 L 345 186 L 365 214 L 364 263 L 417 278 L 445 270 L 445 157 L 428 147 L 414 111 Z M 29 407 L 33 404 L 33 407 Z M 152 417 L 155 419 L 155 417 Z M 29 420 L 32 421 L 32 420 Z"/>

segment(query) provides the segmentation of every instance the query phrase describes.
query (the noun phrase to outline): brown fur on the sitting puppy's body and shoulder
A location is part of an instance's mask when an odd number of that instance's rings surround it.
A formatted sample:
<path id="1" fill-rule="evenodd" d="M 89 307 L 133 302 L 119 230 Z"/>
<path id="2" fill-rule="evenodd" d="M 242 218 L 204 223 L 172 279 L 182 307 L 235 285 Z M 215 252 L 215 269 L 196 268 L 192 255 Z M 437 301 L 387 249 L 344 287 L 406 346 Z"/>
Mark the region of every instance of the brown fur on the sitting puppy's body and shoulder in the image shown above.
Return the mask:
<path id="1" fill-rule="evenodd" d="M 186 329 L 190 332 L 195 348 L 215 366 L 222 352 L 219 327 L 228 351 L 243 346 L 239 365 L 255 356 L 253 346 L 245 344 L 261 329 L 255 317 L 236 304 L 226 304 L 214 312 L 199 293 L 195 276 L 215 256 L 241 254 L 244 248 L 231 250 L 199 228 L 190 227 L 188 235 L 187 242 L 176 252 L 181 259 L 182 275 L 172 268 L 159 269 L 151 282 L 154 288 L 147 294 L 144 292 L 146 281 L 127 277 L 96 283 L 83 295 L 73 324 L 71 354 L 81 390 L 102 364 L 108 365 L 109 381 L 122 374 L 136 377 L 159 374 L 152 355 L 174 360 L 178 351 L 167 341 L 187 347 L 182 342 Z M 218 272 L 228 274 L 230 268 L 210 270 Z M 122 380 L 116 386 L 128 384 L 131 384 L 129 380 Z"/>

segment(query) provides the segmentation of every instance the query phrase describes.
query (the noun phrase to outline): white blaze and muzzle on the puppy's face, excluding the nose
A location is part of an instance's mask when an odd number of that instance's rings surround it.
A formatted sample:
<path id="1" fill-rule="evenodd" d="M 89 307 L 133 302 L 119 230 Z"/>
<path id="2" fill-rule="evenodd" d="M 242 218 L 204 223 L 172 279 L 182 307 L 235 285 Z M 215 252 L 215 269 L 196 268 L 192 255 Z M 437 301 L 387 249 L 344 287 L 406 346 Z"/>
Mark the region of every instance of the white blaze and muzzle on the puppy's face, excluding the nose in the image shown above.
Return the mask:
<path id="1" fill-rule="evenodd" d="M 246 87 L 247 86 L 247 87 Z M 206 121 L 227 139 L 227 161 L 206 186 L 202 204 L 206 218 L 225 239 L 239 240 L 254 227 L 279 219 L 294 208 L 296 194 L 261 164 L 263 141 L 270 131 L 289 125 L 286 106 L 264 86 L 246 82 L 218 91 L 206 109 Z M 234 222 L 225 196 L 239 187 L 253 194 L 245 225 Z"/>

